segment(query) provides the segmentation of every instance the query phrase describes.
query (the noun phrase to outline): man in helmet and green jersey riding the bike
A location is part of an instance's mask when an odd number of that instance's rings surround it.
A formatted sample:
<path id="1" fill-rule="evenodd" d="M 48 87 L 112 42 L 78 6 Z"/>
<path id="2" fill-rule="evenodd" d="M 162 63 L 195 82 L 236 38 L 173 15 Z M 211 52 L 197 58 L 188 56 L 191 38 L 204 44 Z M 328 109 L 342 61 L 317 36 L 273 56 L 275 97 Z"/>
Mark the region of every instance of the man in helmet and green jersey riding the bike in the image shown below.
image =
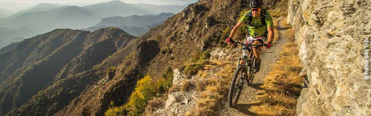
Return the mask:
<path id="1" fill-rule="evenodd" d="M 233 27 L 232 32 L 226 39 L 226 42 L 228 42 L 228 44 L 232 43 L 232 45 L 234 46 L 235 42 L 233 41 L 232 37 L 235 35 L 235 33 L 242 25 L 246 24 L 248 26 L 249 33 L 246 37 L 246 43 L 263 45 L 263 50 L 271 46 L 274 37 L 273 21 L 269 12 L 266 11 L 265 9 L 262 9 L 262 6 L 263 6 L 262 0 L 250 1 L 251 9 L 248 12 L 246 12 L 242 16 L 242 18 L 238 21 L 236 26 Z M 268 41 L 264 43 L 263 39 L 266 39 L 267 34 L 269 35 Z M 259 72 L 261 51 L 259 48 L 253 48 L 253 52 L 257 58 L 254 72 Z"/>

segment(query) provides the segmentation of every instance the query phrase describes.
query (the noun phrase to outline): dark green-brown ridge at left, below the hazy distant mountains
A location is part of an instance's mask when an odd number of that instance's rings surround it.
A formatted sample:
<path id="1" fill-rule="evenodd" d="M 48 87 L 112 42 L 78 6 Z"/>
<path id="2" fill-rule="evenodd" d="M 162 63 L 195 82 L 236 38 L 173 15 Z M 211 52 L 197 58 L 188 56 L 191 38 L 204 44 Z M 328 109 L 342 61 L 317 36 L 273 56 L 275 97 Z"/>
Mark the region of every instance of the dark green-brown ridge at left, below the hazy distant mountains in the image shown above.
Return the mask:
<path id="1" fill-rule="evenodd" d="M 92 69 L 133 38 L 120 29 L 106 28 L 95 32 L 56 29 L 25 39 L 0 55 L 0 115 L 22 106 L 54 82 Z"/>

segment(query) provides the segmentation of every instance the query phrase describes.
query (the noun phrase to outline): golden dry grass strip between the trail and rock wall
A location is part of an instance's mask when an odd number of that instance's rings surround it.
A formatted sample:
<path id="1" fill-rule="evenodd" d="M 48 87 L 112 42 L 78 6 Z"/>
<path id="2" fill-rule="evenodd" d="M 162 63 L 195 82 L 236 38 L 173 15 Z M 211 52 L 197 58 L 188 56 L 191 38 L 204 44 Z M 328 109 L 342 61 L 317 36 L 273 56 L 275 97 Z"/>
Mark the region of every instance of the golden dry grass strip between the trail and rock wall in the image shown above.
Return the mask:
<path id="1" fill-rule="evenodd" d="M 288 26 L 288 25 L 284 25 Z M 264 85 L 256 98 L 258 105 L 249 108 L 257 115 L 296 115 L 297 98 L 300 95 L 303 77 L 299 76 L 302 66 L 298 57 L 298 46 L 294 43 L 293 30 L 284 33 L 289 42 L 284 44 L 280 60 L 272 66 L 265 77 Z"/>

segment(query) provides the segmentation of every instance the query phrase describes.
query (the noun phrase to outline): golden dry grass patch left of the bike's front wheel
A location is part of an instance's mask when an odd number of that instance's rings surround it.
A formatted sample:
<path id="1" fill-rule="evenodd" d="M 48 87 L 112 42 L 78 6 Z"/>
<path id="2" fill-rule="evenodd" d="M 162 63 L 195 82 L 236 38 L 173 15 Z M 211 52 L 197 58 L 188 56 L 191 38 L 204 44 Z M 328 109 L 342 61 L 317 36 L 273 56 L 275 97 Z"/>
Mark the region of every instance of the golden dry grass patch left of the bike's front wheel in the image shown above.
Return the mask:
<path id="1" fill-rule="evenodd" d="M 222 99 L 228 93 L 230 78 L 234 70 L 231 62 L 212 61 L 214 68 L 221 68 L 217 76 L 208 76 L 197 80 L 196 90 L 200 91 L 200 100 L 196 102 L 193 115 L 217 115 L 218 108 L 224 104 Z"/>

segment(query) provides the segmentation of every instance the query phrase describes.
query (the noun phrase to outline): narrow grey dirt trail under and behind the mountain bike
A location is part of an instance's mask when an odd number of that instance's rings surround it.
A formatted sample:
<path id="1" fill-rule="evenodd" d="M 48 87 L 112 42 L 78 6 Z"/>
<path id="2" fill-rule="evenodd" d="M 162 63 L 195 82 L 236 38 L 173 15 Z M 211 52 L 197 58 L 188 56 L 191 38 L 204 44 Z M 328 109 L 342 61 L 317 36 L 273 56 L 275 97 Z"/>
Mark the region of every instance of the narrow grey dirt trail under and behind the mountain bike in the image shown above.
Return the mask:
<path id="1" fill-rule="evenodd" d="M 241 96 L 238 100 L 238 103 L 235 108 L 230 108 L 227 105 L 222 107 L 221 115 L 256 115 L 255 113 L 249 111 L 249 108 L 254 104 L 248 104 L 250 101 L 257 100 L 255 96 L 259 90 L 262 90 L 260 86 L 264 83 L 264 77 L 270 71 L 270 67 L 279 60 L 279 54 L 282 50 L 282 46 L 284 43 L 287 42 L 287 38 L 284 38 L 282 35 L 285 33 L 287 28 L 283 28 L 281 25 L 281 21 L 283 18 L 280 18 L 277 21 L 277 30 L 279 32 L 275 32 L 279 34 L 279 39 L 275 41 L 275 44 L 270 49 L 262 52 L 261 56 L 261 69 L 258 73 L 255 74 L 255 78 L 253 84 L 251 86 L 247 86 L 246 81 L 244 81 L 243 89 L 241 92 Z"/>

